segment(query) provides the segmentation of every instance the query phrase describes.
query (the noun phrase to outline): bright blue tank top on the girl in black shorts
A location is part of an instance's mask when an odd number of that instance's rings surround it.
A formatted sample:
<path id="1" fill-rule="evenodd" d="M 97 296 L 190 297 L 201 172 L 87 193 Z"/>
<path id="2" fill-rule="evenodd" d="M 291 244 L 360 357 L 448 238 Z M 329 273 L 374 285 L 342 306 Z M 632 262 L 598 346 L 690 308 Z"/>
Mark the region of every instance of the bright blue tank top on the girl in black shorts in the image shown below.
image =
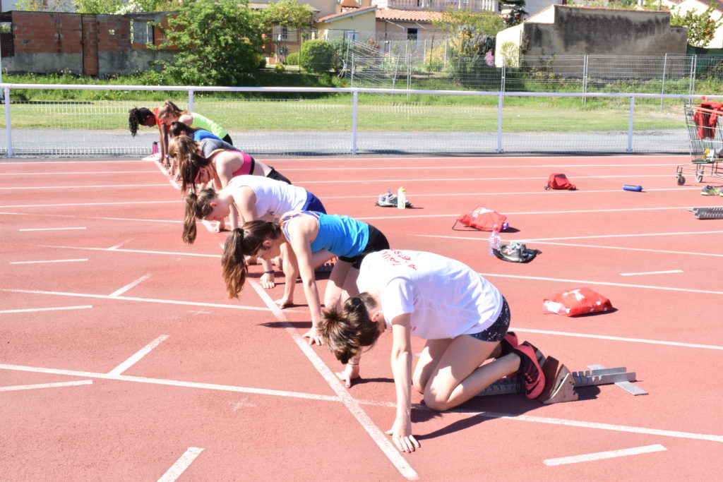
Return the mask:
<path id="1" fill-rule="evenodd" d="M 283 235 L 288 240 L 288 221 L 301 215 L 309 215 L 319 221 L 319 232 L 312 241 L 312 252 L 327 249 L 336 256 L 346 258 L 361 254 L 369 243 L 369 225 L 354 218 L 340 215 L 323 214 L 315 211 L 301 211 L 281 220 Z"/>

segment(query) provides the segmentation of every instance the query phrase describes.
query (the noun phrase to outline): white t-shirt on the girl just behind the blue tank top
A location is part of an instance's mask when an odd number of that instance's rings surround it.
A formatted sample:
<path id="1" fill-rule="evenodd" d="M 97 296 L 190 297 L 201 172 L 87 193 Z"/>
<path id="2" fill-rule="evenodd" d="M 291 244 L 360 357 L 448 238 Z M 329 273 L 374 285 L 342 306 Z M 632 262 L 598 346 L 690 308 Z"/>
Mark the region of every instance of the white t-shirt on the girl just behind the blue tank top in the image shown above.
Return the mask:
<path id="1" fill-rule="evenodd" d="M 236 176 L 226 189 L 233 192 L 241 186 L 249 186 L 256 194 L 256 212 L 261 220 L 278 221 L 284 212 L 304 209 L 307 203 L 306 189 L 268 177 Z"/>

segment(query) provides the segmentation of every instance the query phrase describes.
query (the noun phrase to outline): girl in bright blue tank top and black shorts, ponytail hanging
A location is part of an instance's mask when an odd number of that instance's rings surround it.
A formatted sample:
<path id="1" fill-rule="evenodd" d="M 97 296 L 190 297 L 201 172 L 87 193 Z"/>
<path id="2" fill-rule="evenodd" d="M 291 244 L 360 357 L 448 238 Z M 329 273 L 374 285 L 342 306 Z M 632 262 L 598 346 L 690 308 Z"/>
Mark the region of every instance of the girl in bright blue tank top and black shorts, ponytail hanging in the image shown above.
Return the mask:
<path id="1" fill-rule="evenodd" d="M 388 249 L 387 238 L 374 226 L 359 220 L 311 210 L 287 212 L 280 223 L 268 224 L 273 228 L 257 222 L 245 223 L 241 230 L 234 231 L 236 236 L 226 240 L 223 249 L 226 294 L 236 296 L 244 285 L 247 272 L 244 257 L 269 260 L 281 254 L 286 283 L 283 298 L 276 303 L 281 308 L 294 304 L 294 286 L 300 275 L 312 319 L 312 328 L 304 337 L 309 337 L 309 344 L 321 344 L 317 326 L 322 313 L 315 268 L 338 257 L 326 285 L 324 304 L 327 309 L 341 306 L 348 296 L 359 293 L 356 277 L 361 260 L 369 253 Z"/>

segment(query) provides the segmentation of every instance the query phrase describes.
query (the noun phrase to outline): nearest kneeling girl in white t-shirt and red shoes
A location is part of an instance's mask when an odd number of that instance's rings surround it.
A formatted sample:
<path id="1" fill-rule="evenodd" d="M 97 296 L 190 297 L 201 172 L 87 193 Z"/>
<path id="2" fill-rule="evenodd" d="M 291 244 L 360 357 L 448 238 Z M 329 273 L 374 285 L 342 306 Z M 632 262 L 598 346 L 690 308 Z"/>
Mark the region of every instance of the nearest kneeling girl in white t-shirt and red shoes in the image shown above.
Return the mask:
<path id="1" fill-rule="evenodd" d="M 555 388 L 555 379 L 545 384 L 542 353 L 508 332 L 510 308 L 500 291 L 466 264 L 386 249 L 364 258 L 356 285 L 362 293 L 341 311 L 326 311 L 318 334 L 346 363 L 336 376 L 351 387 L 361 351 L 391 330 L 397 415 L 387 434 L 402 452 L 419 448 L 411 433 L 411 387 L 432 410 L 461 405 L 510 374 L 517 374 L 528 398 L 544 400 Z M 414 374 L 412 335 L 426 340 Z M 495 360 L 484 363 L 488 358 Z"/>

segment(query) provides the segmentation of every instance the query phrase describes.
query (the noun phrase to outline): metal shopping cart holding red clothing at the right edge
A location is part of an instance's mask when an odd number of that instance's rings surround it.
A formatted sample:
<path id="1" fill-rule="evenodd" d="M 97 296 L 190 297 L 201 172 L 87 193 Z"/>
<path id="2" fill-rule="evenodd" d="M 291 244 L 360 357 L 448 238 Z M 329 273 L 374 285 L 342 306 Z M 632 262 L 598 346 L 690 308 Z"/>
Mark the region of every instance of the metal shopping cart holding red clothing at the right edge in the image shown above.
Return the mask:
<path id="1" fill-rule="evenodd" d="M 723 122 L 721 126 L 716 125 L 723 116 L 723 103 L 703 100 L 700 106 L 693 106 L 686 100 L 683 109 L 692 161 L 677 166 L 677 184 L 685 184 L 683 174 L 695 175 L 696 182 L 703 181 L 703 177 L 723 178 Z"/>

